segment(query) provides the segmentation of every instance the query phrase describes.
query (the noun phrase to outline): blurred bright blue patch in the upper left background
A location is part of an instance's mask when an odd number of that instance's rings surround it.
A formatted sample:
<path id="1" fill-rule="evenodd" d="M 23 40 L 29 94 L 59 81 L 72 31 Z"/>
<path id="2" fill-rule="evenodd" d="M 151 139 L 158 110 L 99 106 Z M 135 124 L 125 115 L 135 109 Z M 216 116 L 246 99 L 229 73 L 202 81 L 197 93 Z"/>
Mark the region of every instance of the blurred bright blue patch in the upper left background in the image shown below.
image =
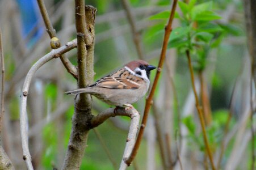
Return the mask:
<path id="1" fill-rule="evenodd" d="M 31 48 L 44 33 L 44 27 L 40 16 L 40 10 L 36 0 L 16 0 L 19 5 L 20 16 L 22 19 L 22 37 L 29 39 L 27 41 L 28 48 Z M 33 34 L 31 34 L 33 33 Z"/>

